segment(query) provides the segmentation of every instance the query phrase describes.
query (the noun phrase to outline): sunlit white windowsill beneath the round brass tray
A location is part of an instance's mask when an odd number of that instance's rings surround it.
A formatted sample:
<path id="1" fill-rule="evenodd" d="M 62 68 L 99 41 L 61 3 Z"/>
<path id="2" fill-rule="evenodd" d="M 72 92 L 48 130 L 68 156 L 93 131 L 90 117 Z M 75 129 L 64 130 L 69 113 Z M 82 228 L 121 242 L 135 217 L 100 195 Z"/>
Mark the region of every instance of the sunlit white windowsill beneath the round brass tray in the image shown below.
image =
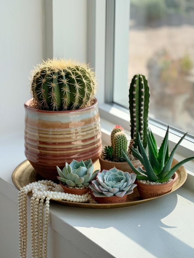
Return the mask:
<path id="1" fill-rule="evenodd" d="M 107 128 L 104 129 L 103 119 L 101 124 L 104 138 Z M 0 141 L 0 191 L 17 203 L 18 190 L 11 174 L 25 160 L 23 132 L 1 137 Z M 50 228 L 79 248 L 85 257 L 192 257 L 194 195 L 186 186 L 159 199 L 122 209 L 84 209 L 52 202 Z"/>

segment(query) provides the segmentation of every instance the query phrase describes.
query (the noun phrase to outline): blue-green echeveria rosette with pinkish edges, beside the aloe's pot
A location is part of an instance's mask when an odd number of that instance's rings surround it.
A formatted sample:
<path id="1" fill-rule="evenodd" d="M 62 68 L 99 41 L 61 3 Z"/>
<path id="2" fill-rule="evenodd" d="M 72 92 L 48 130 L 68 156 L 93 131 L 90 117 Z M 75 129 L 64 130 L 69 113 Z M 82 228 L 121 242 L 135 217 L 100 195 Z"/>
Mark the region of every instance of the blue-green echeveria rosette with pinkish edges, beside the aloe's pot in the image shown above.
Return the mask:
<path id="1" fill-rule="evenodd" d="M 95 197 L 123 197 L 133 192 L 136 174 L 129 174 L 116 169 L 103 170 L 97 174 L 96 180 L 93 180 L 90 188 Z"/>

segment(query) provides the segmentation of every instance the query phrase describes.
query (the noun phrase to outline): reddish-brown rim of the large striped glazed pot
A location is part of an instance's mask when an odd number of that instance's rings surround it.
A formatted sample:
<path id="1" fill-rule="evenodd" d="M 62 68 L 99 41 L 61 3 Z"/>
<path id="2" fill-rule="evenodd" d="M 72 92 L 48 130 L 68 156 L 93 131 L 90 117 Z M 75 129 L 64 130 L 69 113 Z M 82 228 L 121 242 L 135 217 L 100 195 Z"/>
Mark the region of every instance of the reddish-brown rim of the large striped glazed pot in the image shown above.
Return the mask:
<path id="1" fill-rule="evenodd" d="M 72 112 L 79 112 L 79 111 L 84 111 L 84 110 L 88 110 L 88 109 L 91 109 L 93 107 L 96 107 L 98 105 L 98 100 L 97 98 L 94 98 L 94 104 L 92 104 L 91 106 L 89 107 L 85 107 L 83 109 L 75 109 L 75 110 L 61 110 L 61 111 L 52 111 L 52 110 L 41 110 L 41 109 L 38 109 L 38 108 L 35 108 L 35 107 L 30 107 L 30 104 L 32 103 L 33 101 L 33 98 L 30 98 L 29 100 L 27 100 L 25 103 L 24 103 L 24 107 L 25 108 L 28 108 L 28 109 L 31 109 L 31 110 L 36 110 L 38 112 L 42 112 L 42 113 L 51 113 L 51 114 L 56 114 L 56 113 L 72 113 Z"/>

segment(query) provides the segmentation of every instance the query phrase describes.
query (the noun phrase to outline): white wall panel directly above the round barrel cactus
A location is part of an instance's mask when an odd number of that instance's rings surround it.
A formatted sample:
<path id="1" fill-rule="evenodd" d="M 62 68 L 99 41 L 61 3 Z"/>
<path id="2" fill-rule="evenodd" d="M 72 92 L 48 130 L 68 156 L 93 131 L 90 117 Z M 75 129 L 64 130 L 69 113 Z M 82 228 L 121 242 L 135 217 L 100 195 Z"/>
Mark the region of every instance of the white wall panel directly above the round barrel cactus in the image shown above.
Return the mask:
<path id="1" fill-rule="evenodd" d="M 87 61 L 87 0 L 53 0 L 53 55 Z"/>

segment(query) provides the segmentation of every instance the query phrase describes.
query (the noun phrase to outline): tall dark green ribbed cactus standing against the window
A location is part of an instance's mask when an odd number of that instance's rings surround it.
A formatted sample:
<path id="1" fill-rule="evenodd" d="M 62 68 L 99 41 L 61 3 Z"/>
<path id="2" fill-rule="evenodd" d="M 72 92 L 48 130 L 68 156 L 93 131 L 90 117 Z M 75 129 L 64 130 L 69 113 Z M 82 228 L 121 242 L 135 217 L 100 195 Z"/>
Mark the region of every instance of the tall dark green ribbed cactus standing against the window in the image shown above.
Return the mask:
<path id="1" fill-rule="evenodd" d="M 129 88 L 131 138 L 134 141 L 134 148 L 139 146 L 138 132 L 143 147 L 147 147 L 149 97 L 149 86 L 145 76 L 135 75 Z"/>

